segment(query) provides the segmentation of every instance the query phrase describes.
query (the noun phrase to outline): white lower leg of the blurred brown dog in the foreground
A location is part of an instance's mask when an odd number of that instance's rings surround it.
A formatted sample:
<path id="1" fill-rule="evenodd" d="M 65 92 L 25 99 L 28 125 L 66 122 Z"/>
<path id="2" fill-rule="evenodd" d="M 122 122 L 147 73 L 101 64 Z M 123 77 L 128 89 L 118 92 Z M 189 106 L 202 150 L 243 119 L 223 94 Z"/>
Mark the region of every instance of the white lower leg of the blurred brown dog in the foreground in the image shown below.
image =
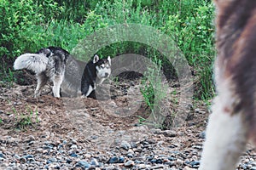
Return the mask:
<path id="1" fill-rule="evenodd" d="M 245 150 L 246 127 L 241 112 L 231 113 L 229 105 L 225 105 L 230 100 L 227 95 L 215 99 L 199 170 L 235 170 Z"/>

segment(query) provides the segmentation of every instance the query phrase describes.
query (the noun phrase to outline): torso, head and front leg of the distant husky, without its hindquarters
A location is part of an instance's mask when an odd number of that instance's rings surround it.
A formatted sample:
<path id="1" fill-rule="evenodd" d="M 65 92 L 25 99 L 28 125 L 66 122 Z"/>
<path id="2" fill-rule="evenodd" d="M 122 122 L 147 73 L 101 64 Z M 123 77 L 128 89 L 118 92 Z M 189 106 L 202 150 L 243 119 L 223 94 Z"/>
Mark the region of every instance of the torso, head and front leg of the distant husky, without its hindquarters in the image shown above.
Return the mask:
<path id="1" fill-rule="evenodd" d="M 87 64 L 70 56 L 67 59 L 65 78 L 61 84 L 63 97 L 92 97 L 97 85 L 111 74 L 111 59 L 94 56 Z M 91 94 L 91 95 L 90 95 Z"/>

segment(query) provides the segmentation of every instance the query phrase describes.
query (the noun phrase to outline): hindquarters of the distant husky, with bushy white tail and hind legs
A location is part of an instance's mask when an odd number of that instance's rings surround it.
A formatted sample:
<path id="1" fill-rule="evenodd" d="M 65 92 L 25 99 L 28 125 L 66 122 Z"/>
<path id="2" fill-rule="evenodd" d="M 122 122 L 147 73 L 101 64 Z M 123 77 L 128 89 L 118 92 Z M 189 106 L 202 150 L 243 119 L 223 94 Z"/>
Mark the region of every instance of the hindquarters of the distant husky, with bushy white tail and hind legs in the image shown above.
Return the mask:
<path id="1" fill-rule="evenodd" d="M 36 54 L 22 54 L 15 59 L 14 69 L 34 71 L 37 77 L 35 97 L 40 95 L 44 85 L 53 82 L 53 94 L 60 97 L 61 82 L 64 78 L 67 58 L 70 54 L 57 47 L 41 48 Z"/>

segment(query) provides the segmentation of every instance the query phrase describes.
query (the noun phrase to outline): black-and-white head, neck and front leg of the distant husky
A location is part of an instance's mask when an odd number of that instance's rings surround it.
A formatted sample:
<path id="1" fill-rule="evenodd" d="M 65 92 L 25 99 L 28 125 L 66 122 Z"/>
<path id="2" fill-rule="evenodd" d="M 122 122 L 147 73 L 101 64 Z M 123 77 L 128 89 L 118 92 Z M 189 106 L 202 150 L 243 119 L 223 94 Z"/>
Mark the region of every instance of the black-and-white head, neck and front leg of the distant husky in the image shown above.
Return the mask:
<path id="1" fill-rule="evenodd" d="M 85 66 L 81 81 L 82 95 L 96 99 L 95 89 L 97 85 L 111 74 L 111 59 L 99 59 L 97 55 Z M 91 95 L 90 95 L 91 94 Z"/>

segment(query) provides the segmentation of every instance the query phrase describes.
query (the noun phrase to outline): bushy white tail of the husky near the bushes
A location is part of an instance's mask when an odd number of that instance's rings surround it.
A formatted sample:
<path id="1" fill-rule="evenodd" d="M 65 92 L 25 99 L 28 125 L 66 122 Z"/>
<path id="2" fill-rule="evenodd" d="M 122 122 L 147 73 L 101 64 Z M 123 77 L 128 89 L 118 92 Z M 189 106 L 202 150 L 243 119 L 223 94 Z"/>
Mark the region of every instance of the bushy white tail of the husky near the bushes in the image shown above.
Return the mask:
<path id="1" fill-rule="evenodd" d="M 14 69 L 27 69 L 36 74 L 45 71 L 48 58 L 44 54 L 22 54 L 15 59 Z"/>

